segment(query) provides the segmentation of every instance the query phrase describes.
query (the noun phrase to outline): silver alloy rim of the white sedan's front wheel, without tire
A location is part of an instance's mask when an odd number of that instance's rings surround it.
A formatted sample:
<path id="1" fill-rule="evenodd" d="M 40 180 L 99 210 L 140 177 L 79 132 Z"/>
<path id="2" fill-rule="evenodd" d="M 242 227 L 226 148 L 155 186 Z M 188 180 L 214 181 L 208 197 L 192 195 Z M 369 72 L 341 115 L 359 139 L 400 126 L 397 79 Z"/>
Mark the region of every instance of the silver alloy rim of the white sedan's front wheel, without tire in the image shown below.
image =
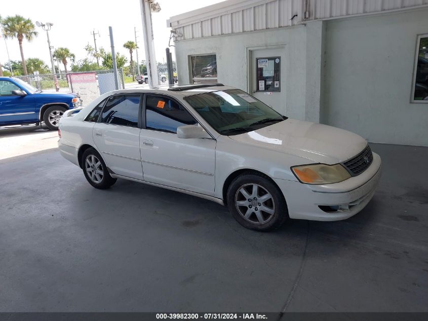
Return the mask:
<path id="1" fill-rule="evenodd" d="M 235 194 L 235 205 L 240 215 L 252 224 L 265 224 L 275 213 L 273 196 L 258 184 L 241 186 Z"/>

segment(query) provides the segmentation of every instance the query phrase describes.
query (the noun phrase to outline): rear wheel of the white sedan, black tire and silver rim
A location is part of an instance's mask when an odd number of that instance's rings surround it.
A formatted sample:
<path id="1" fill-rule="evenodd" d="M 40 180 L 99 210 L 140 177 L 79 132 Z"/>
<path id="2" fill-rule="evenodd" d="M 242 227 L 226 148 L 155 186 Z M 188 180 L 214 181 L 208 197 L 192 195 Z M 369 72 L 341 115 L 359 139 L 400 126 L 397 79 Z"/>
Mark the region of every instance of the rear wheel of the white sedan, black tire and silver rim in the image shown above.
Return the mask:
<path id="1" fill-rule="evenodd" d="M 83 153 L 81 164 L 86 180 L 95 188 L 109 188 L 118 180 L 110 176 L 101 155 L 93 148 L 88 148 Z"/>

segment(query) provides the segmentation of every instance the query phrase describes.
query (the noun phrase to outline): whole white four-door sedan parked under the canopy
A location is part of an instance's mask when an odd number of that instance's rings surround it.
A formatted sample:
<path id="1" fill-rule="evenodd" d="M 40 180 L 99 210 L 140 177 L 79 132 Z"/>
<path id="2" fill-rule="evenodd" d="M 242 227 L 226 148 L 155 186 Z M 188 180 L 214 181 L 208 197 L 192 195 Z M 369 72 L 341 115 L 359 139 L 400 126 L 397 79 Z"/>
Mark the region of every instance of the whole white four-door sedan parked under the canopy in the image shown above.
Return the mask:
<path id="1" fill-rule="evenodd" d="M 121 178 L 199 196 L 258 231 L 347 219 L 380 177 L 361 136 L 287 118 L 222 84 L 109 92 L 65 112 L 58 133 L 61 154 L 95 188 Z"/>

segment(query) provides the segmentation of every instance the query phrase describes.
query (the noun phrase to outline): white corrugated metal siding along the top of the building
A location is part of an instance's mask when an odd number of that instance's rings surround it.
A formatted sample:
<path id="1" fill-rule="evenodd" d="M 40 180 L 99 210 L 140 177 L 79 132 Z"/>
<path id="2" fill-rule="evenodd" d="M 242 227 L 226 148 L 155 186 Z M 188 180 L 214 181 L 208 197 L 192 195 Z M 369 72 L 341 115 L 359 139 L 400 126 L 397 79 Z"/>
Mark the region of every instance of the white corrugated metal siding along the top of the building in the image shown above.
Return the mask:
<path id="1" fill-rule="evenodd" d="M 235 5 L 235 9 L 241 3 L 243 6 L 236 11 L 225 6 L 224 10 L 221 9 L 222 12 L 217 12 L 212 17 L 207 12 L 203 17 L 172 20 L 172 28 L 182 34 L 175 37 L 175 40 L 287 27 L 304 22 L 304 0 L 230 0 L 230 3 Z M 370 14 L 422 5 L 428 5 L 428 0 L 308 0 L 307 20 Z M 297 16 L 293 18 L 294 15 Z"/>

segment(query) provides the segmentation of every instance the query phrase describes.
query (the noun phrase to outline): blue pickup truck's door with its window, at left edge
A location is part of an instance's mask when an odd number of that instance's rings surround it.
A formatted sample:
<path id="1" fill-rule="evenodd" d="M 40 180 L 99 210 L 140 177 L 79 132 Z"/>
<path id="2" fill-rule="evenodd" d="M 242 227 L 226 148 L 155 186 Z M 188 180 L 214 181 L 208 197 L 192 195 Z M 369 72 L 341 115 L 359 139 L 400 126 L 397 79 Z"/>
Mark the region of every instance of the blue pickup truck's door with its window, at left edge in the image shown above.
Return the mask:
<path id="1" fill-rule="evenodd" d="M 35 113 L 33 95 L 16 96 L 12 94 L 14 90 L 25 92 L 9 80 L 0 80 L 0 124 L 36 121 L 38 115 Z"/>

